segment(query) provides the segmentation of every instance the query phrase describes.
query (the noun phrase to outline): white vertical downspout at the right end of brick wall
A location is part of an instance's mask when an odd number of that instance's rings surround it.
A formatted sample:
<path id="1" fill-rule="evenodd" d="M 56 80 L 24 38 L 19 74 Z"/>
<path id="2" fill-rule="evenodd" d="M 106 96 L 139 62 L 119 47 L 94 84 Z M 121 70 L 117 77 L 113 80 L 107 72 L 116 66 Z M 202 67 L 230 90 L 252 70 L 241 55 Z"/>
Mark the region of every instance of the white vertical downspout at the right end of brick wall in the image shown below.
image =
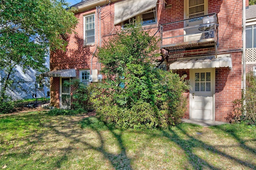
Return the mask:
<path id="1" fill-rule="evenodd" d="M 246 25 L 246 13 L 245 13 L 245 7 L 246 7 L 246 0 L 243 0 L 243 93 L 245 95 L 246 93 L 246 31 L 245 31 L 245 25 Z M 245 104 L 246 101 L 244 101 Z"/>

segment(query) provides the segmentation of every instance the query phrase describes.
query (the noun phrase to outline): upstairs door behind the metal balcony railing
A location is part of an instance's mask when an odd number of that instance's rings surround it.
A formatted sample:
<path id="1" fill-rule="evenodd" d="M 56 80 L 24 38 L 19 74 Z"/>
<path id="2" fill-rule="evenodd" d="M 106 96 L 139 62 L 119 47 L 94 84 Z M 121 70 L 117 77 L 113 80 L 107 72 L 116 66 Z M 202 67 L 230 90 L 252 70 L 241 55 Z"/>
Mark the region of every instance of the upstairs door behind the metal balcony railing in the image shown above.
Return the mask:
<path id="1" fill-rule="evenodd" d="M 208 0 L 184 0 L 184 19 L 199 17 L 208 14 Z M 184 30 L 184 41 L 197 41 L 202 37 L 202 33 L 198 30 L 202 24 L 202 17 L 194 18 L 185 21 L 185 27 L 188 29 Z"/>

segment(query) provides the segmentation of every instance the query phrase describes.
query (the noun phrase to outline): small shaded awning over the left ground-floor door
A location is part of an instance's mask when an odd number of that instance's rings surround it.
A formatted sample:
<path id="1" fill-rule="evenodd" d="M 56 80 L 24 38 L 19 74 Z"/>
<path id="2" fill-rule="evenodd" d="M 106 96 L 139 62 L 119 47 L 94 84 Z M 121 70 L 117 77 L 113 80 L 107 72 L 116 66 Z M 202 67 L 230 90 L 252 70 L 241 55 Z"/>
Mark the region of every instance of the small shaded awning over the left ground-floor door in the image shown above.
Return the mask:
<path id="1" fill-rule="evenodd" d="M 41 74 L 44 77 L 76 77 L 75 69 L 54 70 Z"/>

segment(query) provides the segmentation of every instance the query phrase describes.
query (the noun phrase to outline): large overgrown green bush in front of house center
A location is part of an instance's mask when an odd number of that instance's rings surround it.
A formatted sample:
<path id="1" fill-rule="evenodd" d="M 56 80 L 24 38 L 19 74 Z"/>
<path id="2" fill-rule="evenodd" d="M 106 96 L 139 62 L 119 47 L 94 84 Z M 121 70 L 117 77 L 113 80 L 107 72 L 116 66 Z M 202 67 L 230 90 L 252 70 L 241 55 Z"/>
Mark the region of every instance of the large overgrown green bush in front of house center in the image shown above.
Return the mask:
<path id="1" fill-rule="evenodd" d="M 157 69 L 157 38 L 139 25 L 117 33 L 99 49 L 106 76 L 90 90 L 100 119 L 123 128 L 156 128 L 179 123 L 188 86 L 178 74 Z"/>

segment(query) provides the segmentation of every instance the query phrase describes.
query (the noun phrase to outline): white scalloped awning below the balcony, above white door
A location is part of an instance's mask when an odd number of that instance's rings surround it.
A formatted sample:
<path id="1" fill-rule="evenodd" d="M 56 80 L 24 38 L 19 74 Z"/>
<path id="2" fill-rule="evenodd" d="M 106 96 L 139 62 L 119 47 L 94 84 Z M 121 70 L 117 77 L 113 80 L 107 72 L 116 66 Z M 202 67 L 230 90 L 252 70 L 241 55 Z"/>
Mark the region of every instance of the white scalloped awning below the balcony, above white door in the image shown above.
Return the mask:
<path id="1" fill-rule="evenodd" d="M 192 61 L 175 61 L 170 64 L 170 70 L 194 69 L 194 68 L 232 68 L 230 57 L 218 57 L 214 59 L 192 60 Z"/>

